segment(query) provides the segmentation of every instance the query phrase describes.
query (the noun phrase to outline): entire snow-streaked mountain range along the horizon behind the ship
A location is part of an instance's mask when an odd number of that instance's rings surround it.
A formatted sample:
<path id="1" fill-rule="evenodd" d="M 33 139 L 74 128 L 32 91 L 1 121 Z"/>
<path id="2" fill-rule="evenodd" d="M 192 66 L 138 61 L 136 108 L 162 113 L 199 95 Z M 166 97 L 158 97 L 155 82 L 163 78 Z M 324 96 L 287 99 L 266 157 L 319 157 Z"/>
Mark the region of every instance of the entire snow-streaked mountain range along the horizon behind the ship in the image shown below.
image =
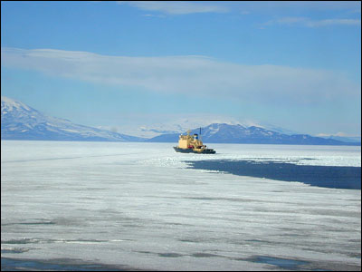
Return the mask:
<path id="1" fill-rule="evenodd" d="M 157 131 L 155 129 L 155 131 Z M 313 137 L 308 134 L 283 133 L 256 125 L 212 123 L 201 128 L 202 140 L 213 143 L 262 143 L 306 145 L 360 145 L 360 141 L 340 141 Z M 158 132 L 158 131 L 157 131 Z M 178 141 L 180 131 L 161 131 L 163 134 L 147 139 L 101 130 L 48 116 L 32 107 L 1 96 L 1 139 L 46 141 Z M 171 133 L 170 133 L 171 132 Z M 184 131 L 186 132 L 186 131 Z M 199 133 L 199 129 L 191 131 Z"/>

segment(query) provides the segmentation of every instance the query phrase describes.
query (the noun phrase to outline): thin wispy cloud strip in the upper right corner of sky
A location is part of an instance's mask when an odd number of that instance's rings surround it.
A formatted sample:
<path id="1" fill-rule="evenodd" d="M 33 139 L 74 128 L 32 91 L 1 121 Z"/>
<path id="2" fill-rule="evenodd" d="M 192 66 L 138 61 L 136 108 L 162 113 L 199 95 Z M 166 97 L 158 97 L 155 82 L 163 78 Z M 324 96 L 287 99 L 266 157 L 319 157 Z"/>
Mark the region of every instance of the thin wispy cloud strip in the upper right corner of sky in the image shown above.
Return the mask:
<path id="1" fill-rule="evenodd" d="M 284 24 L 284 25 L 301 25 L 308 27 L 319 27 L 329 25 L 361 25 L 360 19 L 324 19 L 324 20 L 312 20 L 307 17 L 283 17 L 279 19 L 273 19 L 263 24 Z"/>

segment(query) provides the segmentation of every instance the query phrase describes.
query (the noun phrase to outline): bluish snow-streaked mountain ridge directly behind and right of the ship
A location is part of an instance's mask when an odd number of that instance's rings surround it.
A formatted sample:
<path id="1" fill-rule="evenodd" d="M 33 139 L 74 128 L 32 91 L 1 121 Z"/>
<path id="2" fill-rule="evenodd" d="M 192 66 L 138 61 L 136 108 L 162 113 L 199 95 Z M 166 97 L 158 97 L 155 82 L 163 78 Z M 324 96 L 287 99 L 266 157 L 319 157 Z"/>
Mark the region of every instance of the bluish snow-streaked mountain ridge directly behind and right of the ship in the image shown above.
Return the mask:
<path id="1" fill-rule="evenodd" d="M 192 130 L 192 134 L 199 129 Z M 179 133 L 164 134 L 148 141 L 177 142 Z M 284 134 L 266 130 L 257 126 L 241 124 L 213 123 L 201 129 L 202 140 L 214 143 L 271 143 L 271 144 L 319 144 L 319 145 L 353 145 L 353 143 L 312 137 L 308 134 Z"/>

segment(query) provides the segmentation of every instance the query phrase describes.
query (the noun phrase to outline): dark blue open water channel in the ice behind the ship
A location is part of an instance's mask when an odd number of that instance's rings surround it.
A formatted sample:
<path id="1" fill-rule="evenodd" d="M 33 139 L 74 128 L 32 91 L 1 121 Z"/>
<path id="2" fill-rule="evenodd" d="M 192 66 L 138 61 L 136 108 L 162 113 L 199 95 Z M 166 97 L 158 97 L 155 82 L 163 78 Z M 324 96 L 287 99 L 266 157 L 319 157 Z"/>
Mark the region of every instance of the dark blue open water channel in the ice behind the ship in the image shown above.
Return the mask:
<path id="1" fill-rule="evenodd" d="M 361 189 L 361 168 L 345 166 L 297 165 L 261 160 L 193 160 L 189 168 L 219 170 L 239 176 L 270 180 L 299 181 L 311 186 Z"/>

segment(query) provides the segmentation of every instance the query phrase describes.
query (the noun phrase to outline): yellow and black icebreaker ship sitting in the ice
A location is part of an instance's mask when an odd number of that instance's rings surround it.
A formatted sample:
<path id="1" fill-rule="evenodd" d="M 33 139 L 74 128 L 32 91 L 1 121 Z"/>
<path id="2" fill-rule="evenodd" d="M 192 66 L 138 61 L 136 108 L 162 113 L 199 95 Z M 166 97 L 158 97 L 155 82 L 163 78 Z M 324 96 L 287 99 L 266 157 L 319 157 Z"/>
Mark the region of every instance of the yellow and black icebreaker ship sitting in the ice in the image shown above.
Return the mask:
<path id="1" fill-rule="evenodd" d="M 180 135 L 178 146 L 174 146 L 176 152 L 181 153 L 198 153 L 198 154 L 214 154 L 216 151 L 206 148 L 205 144 L 199 139 L 198 134 L 190 135 L 191 131 L 187 131 L 187 135 Z M 201 128 L 200 128 L 201 136 Z"/>

